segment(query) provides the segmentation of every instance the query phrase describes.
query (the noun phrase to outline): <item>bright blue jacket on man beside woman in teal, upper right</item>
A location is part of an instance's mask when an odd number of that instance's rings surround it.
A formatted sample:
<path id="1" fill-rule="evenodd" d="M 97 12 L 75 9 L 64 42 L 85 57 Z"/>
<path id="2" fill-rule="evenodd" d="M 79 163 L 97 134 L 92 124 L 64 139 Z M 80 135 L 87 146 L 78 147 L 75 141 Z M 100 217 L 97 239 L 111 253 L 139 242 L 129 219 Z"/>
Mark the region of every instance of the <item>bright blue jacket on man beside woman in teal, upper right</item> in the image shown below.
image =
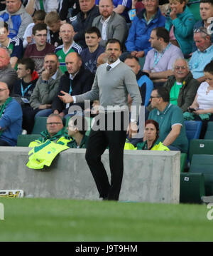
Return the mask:
<path id="1" fill-rule="evenodd" d="M 127 51 L 144 51 L 145 54 L 151 50 L 150 39 L 151 31 L 158 26 L 165 26 L 165 16 L 160 13 L 160 9 L 155 14 L 154 19 L 147 24 L 143 17 L 146 10 L 143 9 L 137 16 L 134 17 L 129 29 L 129 36 L 126 40 Z"/>

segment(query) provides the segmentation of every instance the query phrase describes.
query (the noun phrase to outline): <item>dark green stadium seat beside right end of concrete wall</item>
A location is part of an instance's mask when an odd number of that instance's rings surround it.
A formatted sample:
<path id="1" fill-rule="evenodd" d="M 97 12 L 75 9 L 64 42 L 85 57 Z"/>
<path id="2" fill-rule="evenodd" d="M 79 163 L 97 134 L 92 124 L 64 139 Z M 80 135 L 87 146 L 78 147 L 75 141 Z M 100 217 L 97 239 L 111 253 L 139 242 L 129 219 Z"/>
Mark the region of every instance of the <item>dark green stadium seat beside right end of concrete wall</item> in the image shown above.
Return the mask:
<path id="1" fill-rule="evenodd" d="M 202 173 L 180 173 L 180 203 L 202 203 L 204 195 Z"/>

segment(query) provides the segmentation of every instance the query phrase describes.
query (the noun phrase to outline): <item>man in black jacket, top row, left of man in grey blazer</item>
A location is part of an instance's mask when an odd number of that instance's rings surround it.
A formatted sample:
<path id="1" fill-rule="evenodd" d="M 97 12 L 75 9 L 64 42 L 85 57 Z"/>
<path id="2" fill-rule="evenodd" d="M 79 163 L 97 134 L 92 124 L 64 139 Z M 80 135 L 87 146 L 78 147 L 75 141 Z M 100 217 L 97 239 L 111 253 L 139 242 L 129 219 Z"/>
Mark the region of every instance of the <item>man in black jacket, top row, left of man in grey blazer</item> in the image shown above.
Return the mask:
<path id="1" fill-rule="evenodd" d="M 92 21 L 99 16 L 99 8 L 95 5 L 95 0 L 79 0 L 81 11 L 76 16 L 77 27 L 74 41 L 86 48 L 85 31 L 92 26 Z M 72 21 L 74 22 L 74 21 Z"/>

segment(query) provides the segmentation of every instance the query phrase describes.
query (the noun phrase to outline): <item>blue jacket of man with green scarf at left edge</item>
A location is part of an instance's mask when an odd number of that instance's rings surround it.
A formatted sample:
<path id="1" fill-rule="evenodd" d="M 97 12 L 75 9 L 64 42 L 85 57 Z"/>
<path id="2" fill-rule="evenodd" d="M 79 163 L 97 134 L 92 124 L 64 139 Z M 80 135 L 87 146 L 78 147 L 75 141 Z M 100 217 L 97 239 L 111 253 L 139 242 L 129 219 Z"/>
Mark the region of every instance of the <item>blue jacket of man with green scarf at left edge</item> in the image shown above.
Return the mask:
<path id="1" fill-rule="evenodd" d="M 9 145 L 16 145 L 18 135 L 21 134 L 22 110 L 21 105 L 14 99 L 6 106 L 0 118 L 0 126 L 4 129 L 1 140 Z"/>

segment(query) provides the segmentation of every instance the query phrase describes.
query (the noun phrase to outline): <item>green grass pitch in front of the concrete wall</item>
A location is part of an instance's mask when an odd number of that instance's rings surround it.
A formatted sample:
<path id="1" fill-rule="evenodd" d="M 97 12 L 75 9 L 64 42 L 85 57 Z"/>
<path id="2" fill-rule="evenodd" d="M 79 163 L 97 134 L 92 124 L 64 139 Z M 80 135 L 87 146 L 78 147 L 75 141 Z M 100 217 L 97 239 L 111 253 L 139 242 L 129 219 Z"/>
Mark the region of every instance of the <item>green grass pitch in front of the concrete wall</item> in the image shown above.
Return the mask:
<path id="1" fill-rule="evenodd" d="M 212 241 L 207 205 L 0 198 L 0 241 Z"/>

